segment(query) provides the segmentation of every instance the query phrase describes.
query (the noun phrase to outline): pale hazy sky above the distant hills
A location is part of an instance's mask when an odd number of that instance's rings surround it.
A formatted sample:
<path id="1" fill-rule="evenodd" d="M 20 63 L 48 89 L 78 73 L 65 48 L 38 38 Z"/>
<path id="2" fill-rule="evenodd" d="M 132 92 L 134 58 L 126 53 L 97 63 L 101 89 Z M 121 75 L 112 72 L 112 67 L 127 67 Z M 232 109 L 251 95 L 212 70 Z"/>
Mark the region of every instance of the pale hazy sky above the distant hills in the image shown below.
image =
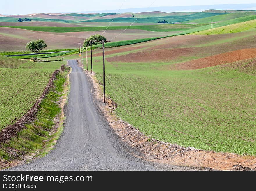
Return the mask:
<path id="1" fill-rule="evenodd" d="M 0 0 L 0 14 L 60 13 L 97 10 L 118 10 L 124 0 Z M 154 3 L 153 3 L 154 2 Z M 153 4 L 152 4 L 153 3 Z M 121 9 L 161 6 L 214 4 L 247 4 L 255 0 L 125 0 Z M 145 10 L 147 11 L 147 10 Z"/>

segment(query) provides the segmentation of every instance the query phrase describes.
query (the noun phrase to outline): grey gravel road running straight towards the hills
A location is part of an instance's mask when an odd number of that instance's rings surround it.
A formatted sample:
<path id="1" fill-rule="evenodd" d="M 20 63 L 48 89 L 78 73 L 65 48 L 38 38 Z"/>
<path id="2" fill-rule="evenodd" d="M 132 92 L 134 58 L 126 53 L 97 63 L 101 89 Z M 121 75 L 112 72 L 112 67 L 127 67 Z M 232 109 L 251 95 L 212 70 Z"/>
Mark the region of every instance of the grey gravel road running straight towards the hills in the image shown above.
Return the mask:
<path id="1" fill-rule="evenodd" d="M 57 144 L 47 156 L 8 170 L 200 170 L 147 161 L 123 143 L 99 110 L 90 78 L 76 60 L 68 63 L 71 88 Z"/>

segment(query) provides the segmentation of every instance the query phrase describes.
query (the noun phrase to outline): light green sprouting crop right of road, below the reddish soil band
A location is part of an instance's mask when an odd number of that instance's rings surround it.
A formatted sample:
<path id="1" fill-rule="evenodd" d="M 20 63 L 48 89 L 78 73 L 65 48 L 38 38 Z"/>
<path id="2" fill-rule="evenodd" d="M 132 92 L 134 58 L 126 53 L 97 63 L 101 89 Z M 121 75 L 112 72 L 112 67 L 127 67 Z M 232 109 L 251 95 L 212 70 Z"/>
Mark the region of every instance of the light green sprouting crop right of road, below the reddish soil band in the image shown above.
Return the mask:
<path id="1" fill-rule="evenodd" d="M 149 43 L 157 44 L 144 46 Z M 116 55 L 108 53 L 106 58 Z M 168 69 L 193 59 L 191 55 L 166 62 L 106 60 L 106 92 L 117 103 L 115 113 L 157 140 L 256 155 L 256 58 L 197 70 Z M 93 57 L 93 70 L 102 82 L 102 56 Z"/>

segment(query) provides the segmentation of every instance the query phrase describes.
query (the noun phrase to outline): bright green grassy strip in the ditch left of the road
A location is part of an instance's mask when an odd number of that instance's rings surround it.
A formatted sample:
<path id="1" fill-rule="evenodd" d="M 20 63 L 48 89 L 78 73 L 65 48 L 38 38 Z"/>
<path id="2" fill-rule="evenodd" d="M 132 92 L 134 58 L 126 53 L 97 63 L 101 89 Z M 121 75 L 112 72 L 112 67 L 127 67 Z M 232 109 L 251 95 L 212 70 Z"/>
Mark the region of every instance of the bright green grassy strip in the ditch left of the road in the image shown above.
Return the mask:
<path id="1" fill-rule="evenodd" d="M 42 99 L 35 119 L 28 124 L 22 131 L 17 132 L 17 136 L 0 144 L 0 168 L 1 162 L 12 166 L 13 160 L 22 160 L 26 154 L 32 156 L 44 156 L 51 149 L 62 132 L 64 115 L 58 104 L 62 97 L 67 96 L 64 91 L 68 67 L 64 71 L 58 72 L 53 81 L 53 87 Z M 66 93 L 63 93 L 66 92 Z M 57 124 L 57 128 L 56 128 Z"/>

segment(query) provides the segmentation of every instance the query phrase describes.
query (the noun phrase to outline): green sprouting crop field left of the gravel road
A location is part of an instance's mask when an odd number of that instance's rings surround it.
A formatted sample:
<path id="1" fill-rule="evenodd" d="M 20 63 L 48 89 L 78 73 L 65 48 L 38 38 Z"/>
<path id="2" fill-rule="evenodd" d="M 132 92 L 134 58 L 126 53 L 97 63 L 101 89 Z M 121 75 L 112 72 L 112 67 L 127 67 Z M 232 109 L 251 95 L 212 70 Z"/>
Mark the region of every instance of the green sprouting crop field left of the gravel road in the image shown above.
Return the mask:
<path id="1" fill-rule="evenodd" d="M 0 56 L 0 130 L 32 108 L 52 73 L 65 63 L 34 63 Z"/>

